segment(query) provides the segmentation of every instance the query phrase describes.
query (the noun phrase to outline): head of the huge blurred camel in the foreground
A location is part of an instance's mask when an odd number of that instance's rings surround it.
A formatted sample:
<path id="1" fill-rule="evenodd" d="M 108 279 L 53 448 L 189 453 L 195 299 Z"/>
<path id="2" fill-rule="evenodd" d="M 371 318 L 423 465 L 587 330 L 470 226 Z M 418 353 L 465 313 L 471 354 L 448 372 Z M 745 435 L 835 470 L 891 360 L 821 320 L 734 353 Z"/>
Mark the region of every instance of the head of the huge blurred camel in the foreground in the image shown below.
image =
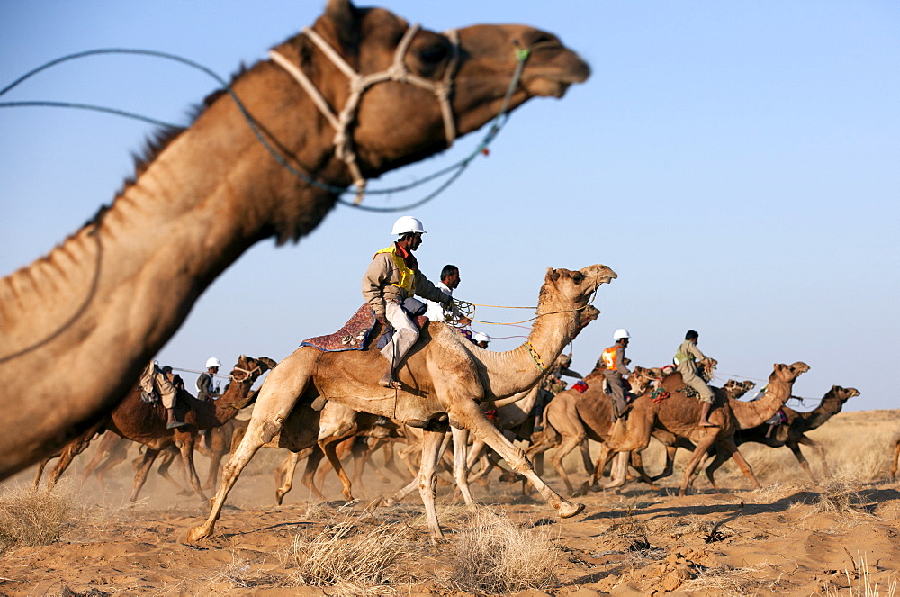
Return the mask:
<path id="1" fill-rule="evenodd" d="M 383 8 L 329 0 L 312 29 L 362 77 L 405 70 L 403 82 L 367 86 L 350 114 L 355 124 L 347 135 L 365 177 L 426 158 L 491 122 L 507 95 L 518 50 L 529 54 L 509 110 L 531 97 L 562 97 L 590 76 L 589 66 L 556 36 L 525 25 L 474 25 L 439 33 L 411 29 Z M 347 73 L 326 59 L 308 34 L 275 50 L 309 71 L 336 113 L 352 99 Z M 441 95 L 447 97 L 445 106 Z"/>

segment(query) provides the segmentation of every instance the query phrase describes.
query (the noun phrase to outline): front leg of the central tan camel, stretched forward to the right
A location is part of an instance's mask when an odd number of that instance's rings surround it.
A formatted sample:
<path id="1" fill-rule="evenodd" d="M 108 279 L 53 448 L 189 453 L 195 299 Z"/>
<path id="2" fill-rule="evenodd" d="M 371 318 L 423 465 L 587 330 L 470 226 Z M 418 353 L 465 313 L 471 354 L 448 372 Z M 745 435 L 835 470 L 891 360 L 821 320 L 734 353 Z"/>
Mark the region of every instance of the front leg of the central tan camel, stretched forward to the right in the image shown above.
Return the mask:
<path id="1" fill-rule="evenodd" d="M 459 400 L 455 407 L 455 412 L 449 413 L 450 418 L 463 422 L 476 438 L 482 439 L 484 443 L 500 454 L 500 457 L 509 463 L 513 471 L 519 475 L 525 475 L 537 491 L 544 496 L 547 503 L 559 511 L 560 516 L 568 518 L 584 510 L 584 504 L 569 502 L 545 484 L 544 480 L 536 474 L 535 468 L 525 456 L 525 452 L 500 433 L 500 430 L 482 414 L 481 409 L 474 401 Z"/>

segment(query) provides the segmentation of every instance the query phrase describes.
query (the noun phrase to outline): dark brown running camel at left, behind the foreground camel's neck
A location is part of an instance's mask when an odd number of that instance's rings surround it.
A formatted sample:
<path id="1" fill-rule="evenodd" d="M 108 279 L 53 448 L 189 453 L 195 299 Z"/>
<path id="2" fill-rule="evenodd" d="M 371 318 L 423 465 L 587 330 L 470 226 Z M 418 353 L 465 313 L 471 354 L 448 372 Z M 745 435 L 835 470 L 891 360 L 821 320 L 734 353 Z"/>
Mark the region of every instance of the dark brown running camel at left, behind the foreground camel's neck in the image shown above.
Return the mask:
<path id="1" fill-rule="evenodd" d="M 166 429 L 166 410 L 159 404 L 145 403 L 140 398 L 140 388 L 133 388 L 109 416 L 100 423 L 104 428 L 122 438 L 147 446 L 147 450 L 144 452 L 140 465 L 135 472 L 131 501 L 138 498 L 140 488 L 147 481 L 149 469 L 153 466 L 153 462 L 159 455 L 159 452 L 174 445 L 181 451 L 188 482 L 191 484 L 194 492 L 200 495 L 205 502 L 207 498 L 203 493 L 200 480 L 197 478 L 196 469 L 193 466 L 193 444 L 196 430 L 219 427 L 226 421 L 233 419 L 238 411 L 247 406 L 249 400 L 256 396 L 256 393 L 251 393 L 250 391 L 252 385 L 260 376 L 274 366 L 275 361 L 271 358 L 260 357 L 257 359 L 241 355 L 238 358 L 237 365 L 231 370 L 231 381 L 225 393 L 222 394 L 219 400 L 213 402 L 197 400 L 190 393 L 180 390 L 176 408 L 179 411 L 187 409 L 187 412 L 184 412 L 184 421 L 189 423 L 189 425 L 174 430 Z M 95 431 L 89 430 L 92 437 Z M 90 443 L 90 438 L 76 438 L 71 443 L 86 448 Z M 50 474 L 49 486 L 56 484 L 60 475 L 71 464 L 72 457 L 75 456 L 76 452 L 74 450 L 63 450 L 63 457 L 59 459 L 57 466 L 53 468 Z M 165 471 L 161 474 L 166 476 Z"/>

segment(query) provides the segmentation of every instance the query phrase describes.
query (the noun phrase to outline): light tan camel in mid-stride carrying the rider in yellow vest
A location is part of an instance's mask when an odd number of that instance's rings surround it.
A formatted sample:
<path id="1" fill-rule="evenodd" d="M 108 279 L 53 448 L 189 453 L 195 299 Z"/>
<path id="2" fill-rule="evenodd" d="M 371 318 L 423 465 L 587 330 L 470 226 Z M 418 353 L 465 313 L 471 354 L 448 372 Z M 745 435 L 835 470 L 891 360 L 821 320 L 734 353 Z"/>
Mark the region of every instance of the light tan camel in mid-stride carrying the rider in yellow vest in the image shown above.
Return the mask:
<path id="1" fill-rule="evenodd" d="M 602 265 L 577 271 L 547 268 L 538 295 L 535 325 L 522 346 L 507 352 L 480 348 L 446 323 L 429 321 L 401 362 L 401 389 L 394 391 L 377 384 L 384 358 L 376 350 L 320 352 L 311 347 L 297 348 L 260 388 L 247 434 L 222 472 L 210 516 L 202 525 L 190 529 L 188 540 L 211 536 L 241 469 L 261 446 L 284 432 L 293 433 L 285 420 L 293 416 L 295 406 L 310 404 L 320 395 L 358 412 L 390 417 L 424 429 L 418 482 L 433 538 L 443 537 L 435 510 L 435 484 L 439 450 L 448 424 L 484 439 L 513 470 L 526 475 L 563 518 L 574 516 L 583 505 L 564 500 L 547 486 L 522 450 L 488 421 L 479 403 L 506 398 L 536 384 L 547 368 L 545 363 L 558 357 L 572 338 L 578 312 L 588 305 L 600 285 L 616 277 L 614 271 Z M 455 442 L 455 451 L 459 444 Z M 463 467 L 464 454 L 454 456 L 455 466 Z M 461 489 L 465 493 L 467 487 L 461 485 Z"/>

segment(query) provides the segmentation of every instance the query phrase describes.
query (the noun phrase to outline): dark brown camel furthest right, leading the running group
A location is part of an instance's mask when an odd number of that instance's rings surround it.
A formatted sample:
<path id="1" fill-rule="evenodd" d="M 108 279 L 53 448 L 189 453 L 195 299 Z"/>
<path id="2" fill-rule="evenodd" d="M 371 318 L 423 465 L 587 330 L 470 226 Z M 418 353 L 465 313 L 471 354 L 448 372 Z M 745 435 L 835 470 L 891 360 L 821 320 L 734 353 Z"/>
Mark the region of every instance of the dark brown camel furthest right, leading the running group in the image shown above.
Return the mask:
<path id="1" fill-rule="evenodd" d="M 854 396 L 859 395 L 860 391 L 856 388 L 842 388 L 840 385 L 833 385 L 832 389 L 829 390 L 828 393 L 825 393 L 822 398 L 822 403 L 815 407 L 814 410 L 810 412 L 797 412 L 787 406 L 782 407 L 781 411 L 785 413 L 785 417 L 788 419 L 787 422 L 776 426 L 771 433 L 769 432 L 770 426 L 766 423 L 750 429 L 739 430 L 734 434 L 735 443 L 740 446 L 745 442 L 755 442 L 758 444 L 765 444 L 771 448 L 787 446 L 790 448 L 791 452 L 794 453 L 794 456 L 797 457 L 797 462 L 800 464 L 800 467 L 803 468 L 804 472 L 806 472 L 806 475 L 808 475 L 810 480 L 815 483 L 813 471 L 810 468 L 809 463 L 806 462 L 803 453 L 800 452 L 800 444 L 815 449 L 819 461 L 822 462 L 825 476 L 829 475 L 828 463 L 825 462 L 825 450 L 822 447 L 822 444 L 814 439 L 806 437 L 806 431 L 815 430 L 824 425 L 826 421 L 831 419 L 838 412 L 841 412 L 844 403 Z M 707 466 L 707 478 L 709 479 L 709 483 L 712 484 L 713 487 L 716 487 L 716 489 L 718 487 L 714 475 L 719 466 L 725 464 L 726 459 L 727 456 L 724 457 L 724 455 L 717 453 L 716 459 Z"/>

